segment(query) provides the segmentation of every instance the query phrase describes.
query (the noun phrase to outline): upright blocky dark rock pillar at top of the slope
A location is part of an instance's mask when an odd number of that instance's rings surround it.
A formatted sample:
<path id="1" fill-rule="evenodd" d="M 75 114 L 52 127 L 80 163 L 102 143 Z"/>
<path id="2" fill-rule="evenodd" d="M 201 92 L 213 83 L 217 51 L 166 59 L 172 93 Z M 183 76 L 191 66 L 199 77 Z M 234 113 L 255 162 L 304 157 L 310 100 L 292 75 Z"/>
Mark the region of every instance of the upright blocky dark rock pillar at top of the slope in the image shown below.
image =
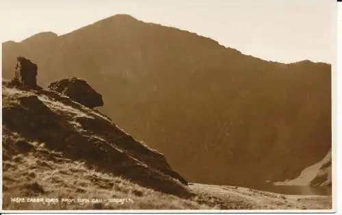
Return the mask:
<path id="1" fill-rule="evenodd" d="M 13 83 L 19 86 L 36 87 L 37 86 L 37 64 L 32 63 L 24 57 L 16 58 L 16 71 L 14 73 Z"/>

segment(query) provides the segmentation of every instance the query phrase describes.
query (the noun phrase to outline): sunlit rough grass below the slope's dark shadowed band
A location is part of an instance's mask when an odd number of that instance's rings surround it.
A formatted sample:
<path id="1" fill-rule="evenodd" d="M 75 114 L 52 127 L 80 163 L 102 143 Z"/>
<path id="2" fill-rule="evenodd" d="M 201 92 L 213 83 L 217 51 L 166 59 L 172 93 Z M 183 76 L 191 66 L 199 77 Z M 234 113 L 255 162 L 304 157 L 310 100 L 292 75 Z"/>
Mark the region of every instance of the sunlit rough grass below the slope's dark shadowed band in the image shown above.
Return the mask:
<path id="1" fill-rule="evenodd" d="M 6 132 L 4 132 L 6 133 Z M 5 135 L 14 143 L 18 135 Z M 208 209 L 193 199 L 181 199 L 144 188 L 110 173 L 100 173 L 79 161 L 68 160 L 31 144 L 40 153 L 20 153 L 3 162 L 3 209 L 5 210 L 91 210 L 91 209 Z M 46 155 L 46 157 L 42 157 Z M 55 157 L 51 159 L 51 157 Z M 39 186 L 37 186 L 39 185 Z M 40 189 L 41 188 L 41 189 Z M 11 197 L 104 199 L 103 203 L 12 203 Z M 127 199 L 109 203 L 105 199 Z"/>

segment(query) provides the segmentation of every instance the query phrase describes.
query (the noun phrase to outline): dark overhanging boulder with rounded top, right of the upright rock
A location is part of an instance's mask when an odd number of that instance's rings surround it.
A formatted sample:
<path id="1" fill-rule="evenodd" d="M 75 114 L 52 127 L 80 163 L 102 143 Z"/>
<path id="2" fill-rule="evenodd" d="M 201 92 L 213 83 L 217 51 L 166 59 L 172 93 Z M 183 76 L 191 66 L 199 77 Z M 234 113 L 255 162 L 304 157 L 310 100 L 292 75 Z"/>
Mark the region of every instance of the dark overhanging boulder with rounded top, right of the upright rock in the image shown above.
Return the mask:
<path id="1" fill-rule="evenodd" d="M 87 81 L 80 78 L 73 77 L 55 81 L 48 88 L 60 92 L 88 108 L 103 106 L 102 95 L 96 92 Z"/>

